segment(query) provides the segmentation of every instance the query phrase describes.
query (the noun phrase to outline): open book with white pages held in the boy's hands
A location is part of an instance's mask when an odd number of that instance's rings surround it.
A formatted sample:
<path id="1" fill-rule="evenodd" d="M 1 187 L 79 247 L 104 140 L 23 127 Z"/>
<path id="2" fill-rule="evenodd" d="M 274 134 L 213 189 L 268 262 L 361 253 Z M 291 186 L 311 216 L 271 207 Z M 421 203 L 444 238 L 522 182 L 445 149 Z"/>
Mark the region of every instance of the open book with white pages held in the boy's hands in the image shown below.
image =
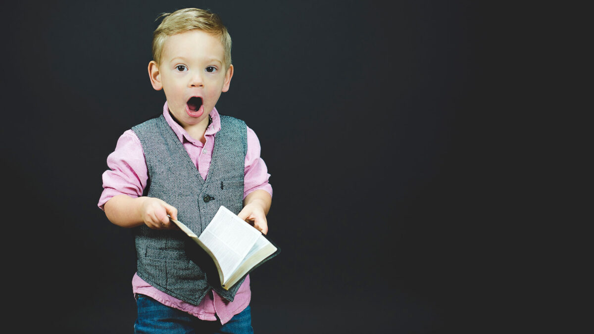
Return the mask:
<path id="1" fill-rule="evenodd" d="M 223 289 L 280 252 L 264 235 L 224 206 L 198 237 L 188 226 L 173 220 L 214 260 Z"/>

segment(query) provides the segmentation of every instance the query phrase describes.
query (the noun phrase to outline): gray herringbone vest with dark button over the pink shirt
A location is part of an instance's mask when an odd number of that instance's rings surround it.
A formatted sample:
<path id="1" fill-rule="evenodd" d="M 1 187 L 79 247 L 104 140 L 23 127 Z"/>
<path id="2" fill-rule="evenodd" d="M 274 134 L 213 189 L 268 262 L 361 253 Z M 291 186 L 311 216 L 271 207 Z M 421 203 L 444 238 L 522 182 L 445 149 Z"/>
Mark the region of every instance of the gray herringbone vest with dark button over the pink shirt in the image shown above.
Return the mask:
<path id="1" fill-rule="evenodd" d="M 206 181 L 163 115 L 132 127 L 143 146 L 149 171 L 146 196 L 161 198 L 176 207 L 178 220 L 197 235 L 220 206 L 235 214 L 243 207 L 247 128 L 243 121 L 230 116 L 221 115 L 220 121 Z M 186 251 L 197 245 L 181 231 L 142 225 L 135 229 L 135 235 L 138 276 L 175 298 L 198 305 L 214 289 L 233 301 L 244 281 L 227 291 L 217 277 L 207 278 L 207 270 L 190 260 Z"/>

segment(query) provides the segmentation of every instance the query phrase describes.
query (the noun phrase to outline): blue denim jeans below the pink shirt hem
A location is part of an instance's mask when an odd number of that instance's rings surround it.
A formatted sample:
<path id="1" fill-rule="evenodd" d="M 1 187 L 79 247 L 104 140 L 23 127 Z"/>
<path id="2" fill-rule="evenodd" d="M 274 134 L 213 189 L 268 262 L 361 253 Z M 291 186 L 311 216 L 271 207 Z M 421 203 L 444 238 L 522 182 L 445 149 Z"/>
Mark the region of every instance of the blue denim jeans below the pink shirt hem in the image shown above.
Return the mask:
<path id="1" fill-rule="evenodd" d="M 159 303 L 153 298 L 138 294 L 138 318 L 134 333 L 213 333 L 253 334 L 251 308 L 235 314 L 228 323 L 219 320 L 200 320 L 177 308 Z"/>

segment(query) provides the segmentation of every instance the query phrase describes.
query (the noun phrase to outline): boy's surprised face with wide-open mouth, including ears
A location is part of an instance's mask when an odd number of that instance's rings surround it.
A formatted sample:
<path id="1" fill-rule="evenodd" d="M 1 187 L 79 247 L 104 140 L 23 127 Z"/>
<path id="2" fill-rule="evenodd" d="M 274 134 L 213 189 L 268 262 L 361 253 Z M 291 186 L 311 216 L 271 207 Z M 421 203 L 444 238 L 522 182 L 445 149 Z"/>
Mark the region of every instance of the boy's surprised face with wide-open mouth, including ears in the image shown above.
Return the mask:
<path id="1" fill-rule="evenodd" d="M 223 55 L 216 36 L 189 30 L 168 36 L 161 64 L 149 64 L 153 88 L 165 91 L 169 111 L 186 130 L 208 124 L 220 94 L 229 90 L 233 65 L 226 71 Z"/>

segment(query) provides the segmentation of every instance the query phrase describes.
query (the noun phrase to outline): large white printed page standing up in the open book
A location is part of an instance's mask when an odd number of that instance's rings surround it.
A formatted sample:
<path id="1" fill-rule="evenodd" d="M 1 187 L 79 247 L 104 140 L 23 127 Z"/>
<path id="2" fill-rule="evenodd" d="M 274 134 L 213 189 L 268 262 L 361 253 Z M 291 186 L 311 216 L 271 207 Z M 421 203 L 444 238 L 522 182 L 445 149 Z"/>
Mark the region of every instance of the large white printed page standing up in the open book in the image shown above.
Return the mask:
<path id="1" fill-rule="evenodd" d="M 216 257 L 223 280 L 226 280 L 245 259 L 260 235 L 260 231 L 221 206 L 198 240 Z"/>

